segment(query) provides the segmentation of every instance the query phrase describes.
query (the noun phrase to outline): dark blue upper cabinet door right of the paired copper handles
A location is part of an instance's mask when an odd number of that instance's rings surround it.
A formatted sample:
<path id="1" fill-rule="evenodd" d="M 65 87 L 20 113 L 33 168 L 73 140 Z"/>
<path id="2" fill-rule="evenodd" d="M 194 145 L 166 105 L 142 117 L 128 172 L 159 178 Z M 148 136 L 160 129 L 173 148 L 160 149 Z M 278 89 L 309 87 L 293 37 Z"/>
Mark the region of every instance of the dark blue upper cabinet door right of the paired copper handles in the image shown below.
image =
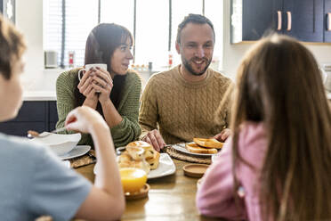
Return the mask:
<path id="1" fill-rule="evenodd" d="M 323 42 L 323 0 L 284 0 L 284 34 Z"/>

